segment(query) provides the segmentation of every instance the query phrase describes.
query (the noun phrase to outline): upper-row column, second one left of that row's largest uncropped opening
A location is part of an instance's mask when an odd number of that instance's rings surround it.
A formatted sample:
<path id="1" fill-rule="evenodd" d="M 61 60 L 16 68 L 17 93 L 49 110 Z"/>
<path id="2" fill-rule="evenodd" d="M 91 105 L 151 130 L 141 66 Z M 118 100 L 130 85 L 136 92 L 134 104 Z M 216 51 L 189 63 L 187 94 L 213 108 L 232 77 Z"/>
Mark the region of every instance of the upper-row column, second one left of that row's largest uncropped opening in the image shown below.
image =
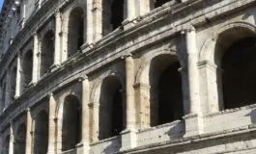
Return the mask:
<path id="1" fill-rule="evenodd" d="M 34 45 L 33 45 L 33 67 L 32 67 L 32 83 L 35 84 L 39 80 L 39 38 L 38 34 L 34 34 Z"/>

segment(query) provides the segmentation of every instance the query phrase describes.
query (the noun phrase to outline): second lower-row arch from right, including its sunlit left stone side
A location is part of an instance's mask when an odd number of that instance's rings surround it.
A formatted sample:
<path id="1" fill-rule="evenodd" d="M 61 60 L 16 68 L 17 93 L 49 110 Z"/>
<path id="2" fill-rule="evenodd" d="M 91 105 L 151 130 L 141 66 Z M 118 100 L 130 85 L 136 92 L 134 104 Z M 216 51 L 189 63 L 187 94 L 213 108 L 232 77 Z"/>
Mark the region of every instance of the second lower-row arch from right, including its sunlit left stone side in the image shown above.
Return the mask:
<path id="1" fill-rule="evenodd" d="M 182 75 L 178 71 L 181 64 L 178 59 L 177 55 L 170 53 L 157 54 L 138 71 L 136 83 L 140 85 L 140 97 L 145 98 L 140 100 L 141 112 L 148 119 L 149 126 L 184 116 Z"/>

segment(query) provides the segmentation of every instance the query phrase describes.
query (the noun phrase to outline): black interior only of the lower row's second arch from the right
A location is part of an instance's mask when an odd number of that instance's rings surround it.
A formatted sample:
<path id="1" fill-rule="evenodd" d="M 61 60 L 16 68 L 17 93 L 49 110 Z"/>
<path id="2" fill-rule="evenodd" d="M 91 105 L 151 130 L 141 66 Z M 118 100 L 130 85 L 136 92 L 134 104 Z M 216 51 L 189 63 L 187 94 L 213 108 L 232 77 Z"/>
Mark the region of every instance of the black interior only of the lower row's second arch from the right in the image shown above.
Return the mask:
<path id="1" fill-rule="evenodd" d="M 179 63 L 169 65 L 158 82 L 158 124 L 168 123 L 184 116 L 182 77 Z"/>

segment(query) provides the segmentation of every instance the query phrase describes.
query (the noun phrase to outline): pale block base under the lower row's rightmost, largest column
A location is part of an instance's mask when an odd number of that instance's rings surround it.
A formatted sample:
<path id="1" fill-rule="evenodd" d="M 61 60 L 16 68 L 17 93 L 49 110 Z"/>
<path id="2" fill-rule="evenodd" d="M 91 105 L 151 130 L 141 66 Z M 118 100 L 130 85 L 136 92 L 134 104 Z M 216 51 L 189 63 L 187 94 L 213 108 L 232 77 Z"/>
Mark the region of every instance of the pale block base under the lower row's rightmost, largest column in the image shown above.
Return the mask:
<path id="1" fill-rule="evenodd" d="M 200 127 L 202 125 L 200 121 L 200 116 L 198 115 L 187 115 L 184 116 L 185 119 L 185 136 L 184 137 L 191 137 L 202 134 L 203 130 Z"/>

